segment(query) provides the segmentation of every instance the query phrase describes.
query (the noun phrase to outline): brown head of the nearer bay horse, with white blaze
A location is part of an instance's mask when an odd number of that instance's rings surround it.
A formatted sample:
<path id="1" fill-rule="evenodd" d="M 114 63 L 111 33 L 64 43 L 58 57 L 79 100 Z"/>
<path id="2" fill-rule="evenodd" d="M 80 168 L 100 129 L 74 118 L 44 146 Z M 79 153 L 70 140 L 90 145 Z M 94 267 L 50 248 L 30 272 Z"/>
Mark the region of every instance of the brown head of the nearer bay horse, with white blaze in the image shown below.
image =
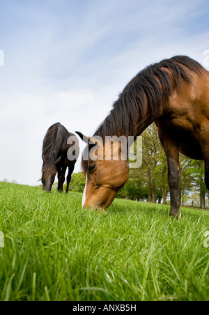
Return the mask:
<path id="1" fill-rule="evenodd" d="M 104 210 L 111 205 L 129 176 L 121 142 L 106 141 L 103 144 L 102 139 L 86 137 L 81 132 L 77 134 L 88 144 L 83 155 L 86 187 L 82 206 Z"/>

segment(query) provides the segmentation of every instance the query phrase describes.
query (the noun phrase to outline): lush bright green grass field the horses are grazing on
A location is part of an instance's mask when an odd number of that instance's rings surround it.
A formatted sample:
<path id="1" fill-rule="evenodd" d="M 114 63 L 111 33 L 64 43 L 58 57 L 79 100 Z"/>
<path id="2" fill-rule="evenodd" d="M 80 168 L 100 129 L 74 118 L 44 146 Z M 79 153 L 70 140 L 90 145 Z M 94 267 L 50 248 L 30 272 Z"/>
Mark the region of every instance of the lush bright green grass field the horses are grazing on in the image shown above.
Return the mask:
<path id="1" fill-rule="evenodd" d="M 209 212 L 0 183 L 0 300 L 209 300 Z"/>

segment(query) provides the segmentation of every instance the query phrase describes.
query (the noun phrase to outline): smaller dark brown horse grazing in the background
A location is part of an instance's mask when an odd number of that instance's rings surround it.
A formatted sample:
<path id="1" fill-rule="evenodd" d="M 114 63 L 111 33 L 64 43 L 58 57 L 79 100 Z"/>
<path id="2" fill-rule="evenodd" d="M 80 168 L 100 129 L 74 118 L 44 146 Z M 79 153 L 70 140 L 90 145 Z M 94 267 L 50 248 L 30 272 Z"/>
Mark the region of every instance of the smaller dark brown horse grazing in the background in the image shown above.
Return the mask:
<path id="1" fill-rule="evenodd" d="M 72 141 L 71 144 L 68 144 L 68 139 L 70 139 L 70 137 Z M 72 148 L 73 141 L 75 141 L 75 159 L 68 160 L 68 151 Z M 72 148 L 72 150 L 73 149 L 74 148 Z M 68 193 L 71 175 L 74 171 L 78 155 L 79 142 L 77 137 L 68 132 L 68 130 L 60 123 L 52 125 L 47 130 L 42 146 L 42 189 L 47 192 L 51 192 L 54 178 L 57 173 L 58 191 L 63 192 L 65 172 L 68 168 L 66 187 L 66 192 Z"/>

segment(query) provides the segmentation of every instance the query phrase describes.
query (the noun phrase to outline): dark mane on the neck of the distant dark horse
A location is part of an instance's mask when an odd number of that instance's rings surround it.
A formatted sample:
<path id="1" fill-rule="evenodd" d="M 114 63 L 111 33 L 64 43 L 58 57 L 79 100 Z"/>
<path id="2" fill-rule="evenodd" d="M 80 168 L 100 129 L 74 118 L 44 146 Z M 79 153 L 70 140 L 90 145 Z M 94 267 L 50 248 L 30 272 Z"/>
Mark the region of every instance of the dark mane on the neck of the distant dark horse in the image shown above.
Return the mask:
<path id="1" fill-rule="evenodd" d="M 55 123 L 54 125 L 52 125 L 47 130 L 47 134 L 45 135 L 45 139 L 43 141 L 42 155 L 47 162 L 47 167 L 54 167 L 54 150 L 56 145 L 57 132 L 60 125 L 60 123 Z"/>

